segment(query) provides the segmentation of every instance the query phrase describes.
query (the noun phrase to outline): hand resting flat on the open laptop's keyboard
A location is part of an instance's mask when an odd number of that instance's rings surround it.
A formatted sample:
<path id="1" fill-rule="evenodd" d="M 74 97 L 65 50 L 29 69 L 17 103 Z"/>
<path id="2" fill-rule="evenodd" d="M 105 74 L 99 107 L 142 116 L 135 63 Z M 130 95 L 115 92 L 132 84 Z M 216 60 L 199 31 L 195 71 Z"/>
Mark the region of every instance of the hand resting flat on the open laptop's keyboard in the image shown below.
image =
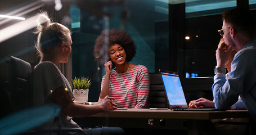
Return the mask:
<path id="1" fill-rule="evenodd" d="M 189 108 L 215 108 L 214 102 L 201 97 L 198 100 L 190 101 Z"/>

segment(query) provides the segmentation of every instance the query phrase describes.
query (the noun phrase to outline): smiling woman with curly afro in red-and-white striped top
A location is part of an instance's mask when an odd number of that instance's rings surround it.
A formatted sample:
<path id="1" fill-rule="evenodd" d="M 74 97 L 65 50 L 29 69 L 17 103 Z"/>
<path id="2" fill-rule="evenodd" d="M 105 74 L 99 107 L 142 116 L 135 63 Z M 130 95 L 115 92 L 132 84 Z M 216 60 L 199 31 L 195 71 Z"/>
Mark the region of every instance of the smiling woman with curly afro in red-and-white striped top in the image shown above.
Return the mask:
<path id="1" fill-rule="evenodd" d="M 109 60 L 104 59 L 106 53 Z M 107 95 L 114 97 L 119 108 L 147 107 L 149 72 L 143 65 L 129 63 L 135 54 L 134 41 L 125 31 L 111 29 L 101 32 L 94 50 L 96 59 L 104 64 L 106 71 L 101 82 L 100 99 Z"/>

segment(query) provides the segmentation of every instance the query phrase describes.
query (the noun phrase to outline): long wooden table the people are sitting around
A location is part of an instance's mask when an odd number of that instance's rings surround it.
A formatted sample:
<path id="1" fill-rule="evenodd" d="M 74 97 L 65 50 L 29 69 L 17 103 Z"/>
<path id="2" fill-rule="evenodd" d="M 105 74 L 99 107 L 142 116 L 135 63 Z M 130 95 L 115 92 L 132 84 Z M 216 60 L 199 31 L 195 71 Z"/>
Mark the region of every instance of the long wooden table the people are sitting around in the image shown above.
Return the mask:
<path id="1" fill-rule="evenodd" d="M 188 134 L 218 134 L 212 119 L 249 118 L 246 110 L 172 111 L 151 109 L 113 110 L 84 118 L 73 118 L 82 126 L 187 130 Z M 148 120 L 153 120 L 153 125 Z"/>

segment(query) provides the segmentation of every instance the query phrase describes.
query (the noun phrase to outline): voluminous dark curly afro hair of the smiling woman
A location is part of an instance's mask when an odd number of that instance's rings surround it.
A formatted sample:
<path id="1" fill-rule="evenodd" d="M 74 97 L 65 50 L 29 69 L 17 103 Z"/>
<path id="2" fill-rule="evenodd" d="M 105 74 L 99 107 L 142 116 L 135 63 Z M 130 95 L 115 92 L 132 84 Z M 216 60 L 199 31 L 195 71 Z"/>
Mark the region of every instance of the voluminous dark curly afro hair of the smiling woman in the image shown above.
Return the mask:
<path id="1" fill-rule="evenodd" d="M 108 52 L 100 53 L 102 50 L 102 47 L 105 44 L 105 37 L 109 35 L 109 45 L 107 48 L 109 48 L 110 45 L 113 45 L 115 43 L 120 44 L 124 48 L 124 51 L 126 53 L 126 61 L 132 61 L 133 57 L 136 54 L 136 45 L 134 44 L 133 39 L 131 36 L 122 30 L 118 29 L 111 29 L 109 30 L 109 33 L 107 33 L 107 30 L 102 30 L 101 34 L 97 37 L 95 40 L 95 47 L 94 47 L 94 56 L 96 59 L 98 59 L 98 62 L 102 65 L 104 64 L 104 61 L 102 61 L 102 58 L 104 57 L 104 54 L 109 54 Z M 108 51 L 108 50 L 107 50 Z"/>

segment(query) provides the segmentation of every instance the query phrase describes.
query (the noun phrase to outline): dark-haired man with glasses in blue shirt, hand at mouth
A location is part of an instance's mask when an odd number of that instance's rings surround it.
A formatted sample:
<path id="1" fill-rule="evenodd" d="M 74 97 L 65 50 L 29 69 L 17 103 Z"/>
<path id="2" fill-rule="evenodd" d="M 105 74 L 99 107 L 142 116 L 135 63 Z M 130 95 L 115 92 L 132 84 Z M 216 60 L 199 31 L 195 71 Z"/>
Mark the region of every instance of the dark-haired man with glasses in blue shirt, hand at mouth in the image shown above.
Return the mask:
<path id="1" fill-rule="evenodd" d="M 222 14 L 222 29 L 218 30 L 224 41 L 216 50 L 217 66 L 212 86 L 214 106 L 227 110 L 240 96 L 251 118 L 256 122 L 256 40 L 255 20 L 250 11 L 233 8 Z M 224 65 L 232 50 L 237 51 L 231 72 L 225 76 Z"/>

